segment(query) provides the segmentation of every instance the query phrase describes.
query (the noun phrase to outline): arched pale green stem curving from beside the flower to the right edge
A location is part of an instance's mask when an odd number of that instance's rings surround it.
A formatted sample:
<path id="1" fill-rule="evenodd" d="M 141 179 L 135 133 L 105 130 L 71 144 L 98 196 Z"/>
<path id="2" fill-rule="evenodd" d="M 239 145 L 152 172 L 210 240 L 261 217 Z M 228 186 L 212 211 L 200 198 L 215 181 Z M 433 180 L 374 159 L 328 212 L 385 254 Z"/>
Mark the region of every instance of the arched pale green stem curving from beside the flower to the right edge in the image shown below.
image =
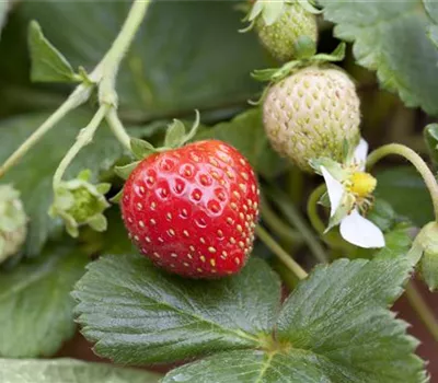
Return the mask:
<path id="1" fill-rule="evenodd" d="M 438 184 L 435 179 L 434 173 L 415 151 L 400 143 L 385 144 L 376 149 L 370 155 L 368 155 L 367 167 L 372 167 L 379 160 L 390 154 L 404 156 L 422 175 L 427 188 L 429 189 L 434 204 L 435 220 L 438 221 Z"/>

